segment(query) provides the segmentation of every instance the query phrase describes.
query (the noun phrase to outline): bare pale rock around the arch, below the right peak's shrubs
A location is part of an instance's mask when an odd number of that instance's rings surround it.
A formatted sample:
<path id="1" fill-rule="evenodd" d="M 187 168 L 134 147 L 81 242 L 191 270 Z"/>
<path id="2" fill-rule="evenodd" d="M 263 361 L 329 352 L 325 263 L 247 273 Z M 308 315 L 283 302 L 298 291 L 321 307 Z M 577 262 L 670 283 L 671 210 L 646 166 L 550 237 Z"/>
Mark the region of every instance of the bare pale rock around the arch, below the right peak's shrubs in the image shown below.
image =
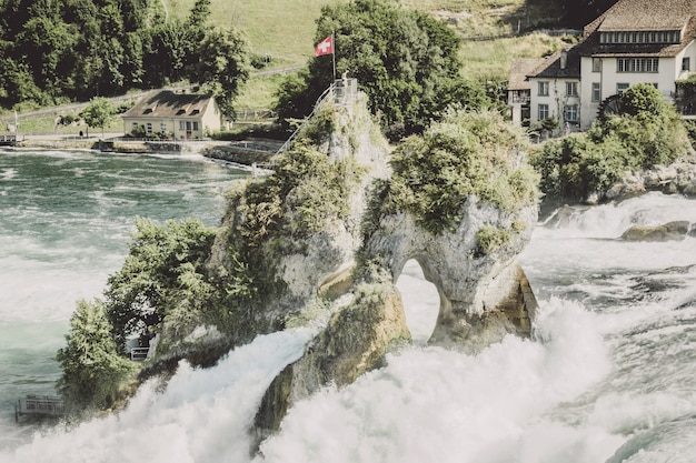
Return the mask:
<path id="1" fill-rule="evenodd" d="M 465 218 L 453 232 L 434 235 L 406 213 L 384 217 L 366 243 L 368 254 L 379 256 L 396 283 L 409 259 L 420 264 L 427 281 L 440 295 L 440 309 L 430 344 L 458 345 L 477 351 L 508 333 L 530 334 L 537 308 L 517 255 L 530 239 L 536 207 L 506 213 L 476 197 L 464 204 Z M 527 227 L 510 242 L 484 253 L 476 238 L 484 225 Z"/>

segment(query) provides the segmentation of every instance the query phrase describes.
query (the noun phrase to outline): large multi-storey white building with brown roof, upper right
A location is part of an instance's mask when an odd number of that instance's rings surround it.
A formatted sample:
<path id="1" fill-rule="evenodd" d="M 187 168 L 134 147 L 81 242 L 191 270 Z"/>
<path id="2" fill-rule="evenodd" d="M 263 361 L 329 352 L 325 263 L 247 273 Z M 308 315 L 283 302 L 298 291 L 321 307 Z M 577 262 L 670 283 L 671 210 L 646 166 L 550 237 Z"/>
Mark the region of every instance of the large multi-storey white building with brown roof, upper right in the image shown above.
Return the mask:
<path id="1" fill-rule="evenodd" d="M 587 130 L 600 103 L 634 83 L 652 83 L 684 114 L 678 81 L 696 74 L 696 0 L 619 0 L 585 27 L 577 46 L 527 74 L 530 121 L 555 118 Z"/>

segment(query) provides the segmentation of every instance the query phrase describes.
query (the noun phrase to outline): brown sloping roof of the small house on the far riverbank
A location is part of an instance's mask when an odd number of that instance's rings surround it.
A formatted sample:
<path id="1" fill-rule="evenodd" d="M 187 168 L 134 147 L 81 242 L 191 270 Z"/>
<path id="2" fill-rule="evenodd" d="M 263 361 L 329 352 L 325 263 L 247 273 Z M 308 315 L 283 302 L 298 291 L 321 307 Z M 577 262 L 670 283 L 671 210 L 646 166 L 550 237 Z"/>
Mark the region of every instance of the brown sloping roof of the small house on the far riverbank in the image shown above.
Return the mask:
<path id="1" fill-rule="evenodd" d="M 211 102 L 212 97 L 206 94 L 156 91 L 140 99 L 121 118 L 197 118 L 206 112 Z"/>

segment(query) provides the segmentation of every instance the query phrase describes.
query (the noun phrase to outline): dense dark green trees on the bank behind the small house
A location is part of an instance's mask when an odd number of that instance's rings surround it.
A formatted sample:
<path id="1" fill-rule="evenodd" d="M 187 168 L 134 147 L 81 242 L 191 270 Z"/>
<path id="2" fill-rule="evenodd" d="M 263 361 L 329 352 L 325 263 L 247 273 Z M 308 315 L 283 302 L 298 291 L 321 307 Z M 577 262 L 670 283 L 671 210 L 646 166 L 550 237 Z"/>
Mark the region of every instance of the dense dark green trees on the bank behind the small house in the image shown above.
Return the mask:
<path id="1" fill-rule="evenodd" d="M 2 0 L 0 107 L 88 101 L 182 79 L 230 101 L 248 78 L 246 47 L 233 31 L 208 27 L 209 16 L 210 0 L 198 0 L 185 21 L 167 19 L 153 0 Z M 222 73 L 235 80 L 220 84 Z"/>

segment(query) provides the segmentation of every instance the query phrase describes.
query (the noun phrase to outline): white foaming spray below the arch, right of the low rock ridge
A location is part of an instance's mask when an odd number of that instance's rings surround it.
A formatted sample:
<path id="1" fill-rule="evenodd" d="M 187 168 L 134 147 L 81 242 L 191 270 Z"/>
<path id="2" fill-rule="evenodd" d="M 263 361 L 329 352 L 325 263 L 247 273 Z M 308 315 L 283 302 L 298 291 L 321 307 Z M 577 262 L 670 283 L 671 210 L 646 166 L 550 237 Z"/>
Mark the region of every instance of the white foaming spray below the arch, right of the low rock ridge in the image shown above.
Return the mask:
<path id="1" fill-rule="evenodd" d="M 544 342 L 509 336 L 478 355 L 439 348 L 390 355 L 385 369 L 298 403 L 257 463 L 557 462 L 569 443 L 588 450 L 565 462 L 603 461 L 615 439 L 544 419 L 609 371 L 595 316 L 551 301 L 539 335 Z M 546 442 L 549 430 L 563 441 Z"/>

